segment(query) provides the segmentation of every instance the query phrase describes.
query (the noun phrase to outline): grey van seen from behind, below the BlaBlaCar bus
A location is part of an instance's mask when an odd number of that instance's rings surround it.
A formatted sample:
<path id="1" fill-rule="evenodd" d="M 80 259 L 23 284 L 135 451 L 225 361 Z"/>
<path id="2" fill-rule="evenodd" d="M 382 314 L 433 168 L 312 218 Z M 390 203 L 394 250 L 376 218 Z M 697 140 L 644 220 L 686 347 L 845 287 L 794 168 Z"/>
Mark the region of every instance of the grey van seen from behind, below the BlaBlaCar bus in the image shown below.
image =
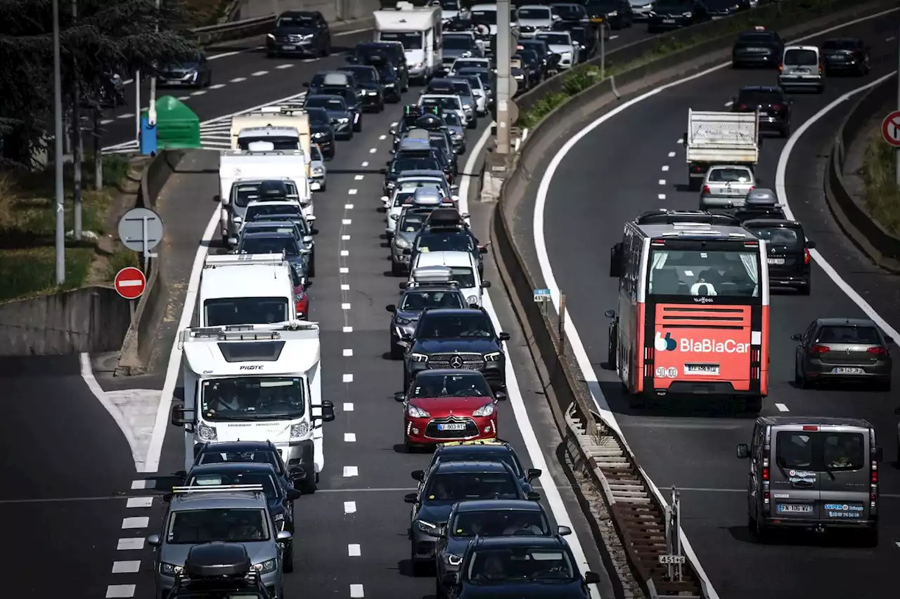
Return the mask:
<path id="1" fill-rule="evenodd" d="M 858 531 L 878 544 L 881 448 L 865 420 L 760 416 L 750 446 L 747 526 L 760 542 L 775 528 Z"/>

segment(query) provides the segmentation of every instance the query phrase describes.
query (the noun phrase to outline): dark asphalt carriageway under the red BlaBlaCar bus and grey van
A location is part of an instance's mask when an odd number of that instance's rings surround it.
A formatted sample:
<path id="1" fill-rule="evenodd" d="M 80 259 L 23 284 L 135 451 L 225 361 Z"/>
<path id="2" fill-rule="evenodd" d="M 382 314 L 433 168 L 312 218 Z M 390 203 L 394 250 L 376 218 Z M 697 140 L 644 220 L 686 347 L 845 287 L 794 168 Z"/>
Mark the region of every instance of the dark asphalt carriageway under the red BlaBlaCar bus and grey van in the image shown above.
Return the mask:
<path id="1" fill-rule="evenodd" d="M 795 217 L 806 223 L 807 236 L 820 248 L 816 259 L 831 265 L 816 262 L 809 297 L 773 294 L 770 396 L 763 414 L 851 416 L 875 425 L 886 455 L 881 473 L 881 541 L 876 549 L 815 535 L 779 539 L 770 545 L 752 543 L 746 529 L 747 465 L 734 452 L 737 443 L 749 442 L 752 419 L 711 407 L 635 412 L 627 407 L 615 375 L 600 367 L 607 360 L 607 323 L 599 315 L 617 304 L 617 280 L 608 277 L 606 256 L 620 239 L 623 223 L 641 210 L 697 209 L 698 194 L 687 191 L 680 145 L 688 109 L 728 110 L 726 103 L 742 85 L 772 85 L 776 74 L 718 68 L 625 103 L 592 123 L 594 128 L 583 137 L 566 144 L 568 151 L 554 157 L 556 166 L 548 169 L 536 193 L 541 215 L 536 220 L 536 254 L 545 281 L 566 294 L 570 323 L 578 334 L 570 333 L 570 338 L 577 337 L 573 344 L 583 346 L 582 368 L 599 380 L 595 388 L 599 406 L 611 409 L 655 484 L 682 489 L 684 529 L 722 597 L 880 596 L 894 584 L 893 570 L 900 558 L 896 543 L 900 541 L 900 474 L 890 463 L 897 458 L 892 399 L 896 394 L 857 388 L 797 389 L 795 343 L 789 338 L 815 317 L 865 317 L 861 298 L 888 326 L 900 324 L 896 279 L 878 273 L 860 258 L 831 222 L 822 191 L 820 156 L 852 104 L 835 101 L 896 69 L 894 29 L 896 13 L 889 13 L 809 40 L 816 43 L 844 36 L 866 40 L 872 47 L 872 72 L 860 78 L 829 78 L 821 95 L 793 95 L 795 138 L 789 142 L 789 153 L 784 139 L 765 139 L 757 170 L 760 185 L 779 187 Z M 832 110 L 818 115 L 815 124 L 801 127 L 832 103 Z M 778 173 L 784 181 L 777 180 Z M 900 366 L 894 371 L 898 375 Z"/>

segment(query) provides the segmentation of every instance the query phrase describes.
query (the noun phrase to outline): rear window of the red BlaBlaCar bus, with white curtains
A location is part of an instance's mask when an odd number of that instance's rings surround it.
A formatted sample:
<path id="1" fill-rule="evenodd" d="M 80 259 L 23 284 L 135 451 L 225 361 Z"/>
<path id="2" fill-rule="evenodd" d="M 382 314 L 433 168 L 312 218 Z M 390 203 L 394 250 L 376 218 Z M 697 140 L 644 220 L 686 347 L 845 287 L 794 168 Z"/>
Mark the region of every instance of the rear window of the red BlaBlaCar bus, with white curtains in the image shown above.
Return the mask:
<path id="1" fill-rule="evenodd" d="M 759 297 L 755 252 L 653 249 L 650 264 L 651 295 Z"/>

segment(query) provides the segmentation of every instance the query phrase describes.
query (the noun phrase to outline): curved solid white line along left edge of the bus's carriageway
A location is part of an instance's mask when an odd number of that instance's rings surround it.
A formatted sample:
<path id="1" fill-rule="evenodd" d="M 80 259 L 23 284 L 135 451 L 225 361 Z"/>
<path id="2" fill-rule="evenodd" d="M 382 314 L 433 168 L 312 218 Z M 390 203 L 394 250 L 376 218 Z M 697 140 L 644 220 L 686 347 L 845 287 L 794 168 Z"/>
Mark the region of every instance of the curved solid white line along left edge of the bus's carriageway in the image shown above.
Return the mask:
<path id="1" fill-rule="evenodd" d="M 791 43 L 797 41 L 810 40 L 824 33 L 830 33 L 832 31 L 838 31 L 844 29 L 848 26 L 855 25 L 859 22 L 869 21 L 871 19 L 877 19 L 878 17 L 884 16 L 890 13 L 896 13 L 897 8 L 891 8 L 886 11 L 882 11 L 880 13 L 871 14 L 866 17 L 862 17 L 860 19 L 855 19 L 849 22 L 842 23 L 841 25 L 836 25 L 834 27 L 830 27 L 828 29 L 824 29 L 822 31 L 816 31 L 815 33 L 811 33 L 801 38 L 797 38 L 797 40 L 793 40 Z M 535 247 L 537 252 L 537 262 L 540 266 L 541 275 L 544 278 L 544 284 L 550 289 L 550 297 L 552 299 L 552 303 L 554 305 L 554 309 L 557 313 L 559 313 L 560 306 L 560 288 L 559 285 L 556 284 L 556 277 L 554 275 L 553 267 L 550 264 L 550 257 L 547 253 L 546 239 L 545 239 L 545 211 L 546 211 L 546 203 L 547 203 L 547 193 L 550 189 L 550 183 L 553 182 L 554 174 L 556 173 L 556 169 L 559 168 L 559 165 L 563 162 L 565 156 L 572 151 L 572 148 L 578 144 L 581 139 L 584 139 L 585 136 L 589 135 L 591 131 L 597 129 L 600 125 L 614 118 L 620 112 L 624 112 L 634 106 L 637 103 L 644 102 L 644 100 L 653 97 L 656 94 L 660 94 L 663 91 L 670 89 L 671 87 L 675 87 L 676 85 L 682 85 L 688 83 L 689 81 L 694 81 L 700 77 L 707 76 L 710 73 L 715 73 L 716 71 L 722 70 L 725 67 L 729 67 L 731 62 L 724 62 L 720 65 L 716 65 L 715 67 L 707 68 L 704 71 L 696 73 L 692 76 L 684 77 L 679 79 L 678 81 L 673 81 L 666 85 L 661 85 L 656 87 L 649 92 L 641 94 L 626 103 L 622 103 L 618 105 L 613 110 L 607 112 L 606 114 L 600 116 L 599 118 L 591 121 L 587 126 L 578 131 L 571 139 L 566 141 L 563 144 L 563 148 L 556 153 L 556 155 L 551 159 L 550 164 L 547 165 L 547 169 L 544 172 L 544 176 L 541 179 L 541 183 L 538 186 L 537 190 L 537 199 L 535 205 L 535 216 L 534 216 L 534 227 L 535 231 Z M 795 133 L 795 136 L 797 134 Z M 793 138 L 792 138 L 793 139 Z M 790 139 L 788 139 L 788 142 Z M 681 145 L 683 139 L 679 139 L 676 143 Z M 815 250 L 814 250 L 815 251 Z M 827 273 L 827 269 L 823 268 Z M 832 269 L 833 270 L 833 269 Z M 874 310 L 873 310 L 874 312 Z M 872 318 L 875 320 L 875 318 Z M 876 320 L 876 322 L 878 322 Z M 584 350 L 584 344 L 581 343 L 581 335 L 578 334 L 578 329 L 575 326 L 572 317 L 566 318 L 565 321 L 565 333 L 566 338 L 569 339 L 570 344 L 572 344 L 572 352 L 575 354 L 576 361 L 578 362 L 579 368 L 581 368 L 581 374 L 584 376 L 585 383 L 588 385 L 590 389 L 591 397 L 594 400 L 594 404 L 599 410 L 600 415 L 603 417 L 604 421 L 606 421 L 607 425 L 612 427 L 617 431 L 618 434 L 622 435 L 625 438 L 625 434 L 622 433 L 622 429 L 618 424 L 618 420 L 616 418 L 615 413 L 609 409 L 609 404 L 607 402 L 607 398 L 603 395 L 603 390 L 600 389 L 599 381 L 597 380 L 597 373 L 594 371 L 594 366 L 590 362 L 590 358 L 588 357 L 588 353 Z M 887 329 L 886 329 L 887 330 Z M 657 499 L 662 503 L 662 505 L 668 505 L 665 497 L 660 493 L 660 489 L 656 487 L 653 480 L 647 476 L 646 477 L 647 484 L 653 490 L 653 494 L 657 497 Z M 688 558 L 693 562 L 695 567 L 697 568 L 698 577 L 706 584 L 707 586 L 707 594 L 709 599 L 719 599 L 719 595 L 716 593 L 716 590 L 713 588 L 712 583 L 707 576 L 706 571 L 704 571 L 703 567 L 700 565 L 699 560 L 697 559 L 697 554 L 694 549 L 690 545 L 690 541 L 688 540 L 688 536 L 684 534 L 684 531 L 681 531 L 681 541 L 682 547 L 684 548 L 685 554 Z"/>

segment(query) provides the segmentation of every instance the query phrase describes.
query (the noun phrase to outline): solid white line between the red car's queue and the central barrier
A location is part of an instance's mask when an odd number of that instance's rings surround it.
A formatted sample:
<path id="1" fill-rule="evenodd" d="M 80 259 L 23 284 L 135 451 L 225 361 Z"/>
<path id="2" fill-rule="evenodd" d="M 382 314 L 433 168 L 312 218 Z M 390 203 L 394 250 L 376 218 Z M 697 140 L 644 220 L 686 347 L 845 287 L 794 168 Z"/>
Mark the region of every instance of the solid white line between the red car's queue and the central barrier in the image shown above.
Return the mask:
<path id="1" fill-rule="evenodd" d="M 485 128 L 484 133 L 482 133 L 482 137 L 478 139 L 478 141 L 472 148 L 472 152 L 469 155 L 469 159 L 466 160 L 465 167 L 463 169 L 464 173 L 474 172 L 475 161 L 482 153 L 482 148 L 484 148 L 484 146 L 490 139 L 491 125 Z M 459 186 L 459 210 L 461 213 L 466 213 L 469 211 L 469 185 L 471 184 L 471 179 L 471 176 L 464 175 L 463 181 Z M 488 315 L 491 317 L 493 326 L 499 331 L 500 319 L 497 317 L 497 312 L 494 310 L 493 304 L 491 303 L 490 292 L 484 292 L 484 299 L 482 303 L 484 305 L 484 309 L 487 310 Z M 508 344 L 506 344 L 505 342 L 504 348 L 509 351 Z M 507 355 L 509 355 L 509 353 Z M 512 361 L 509 360 L 509 358 L 506 362 L 506 380 L 507 393 L 509 396 L 508 403 L 512 407 L 513 415 L 516 417 L 516 424 L 518 425 L 519 432 L 522 434 L 522 440 L 525 443 L 526 450 L 528 451 L 528 457 L 531 459 L 531 463 L 535 468 L 539 468 L 543 471 L 539 480 L 541 483 L 541 487 L 543 487 L 542 490 L 544 491 L 544 497 L 546 499 L 547 505 L 550 505 L 550 510 L 554 514 L 554 520 L 556 521 L 557 525 L 568 526 L 572 528 L 572 535 L 566 537 L 566 540 L 569 541 L 569 547 L 572 549 L 572 555 L 578 562 L 579 569 L 581 569 L 581 572 L 587 572 L 590 569 L 588 559 L 584 557 L 584 550 L 581 549 L 581 540 L 578 537 L 578 533 L 575 532 L 575 527 L 572 525 L 572 518 L 569 517 L 569 512 L 566 510 L 565 504 L 563 504 L 563 496 L 560 495 L 559 489 L 556 487 L 554 478 L 550 474 L 550 469 L 547 468 L 547 461 L 544 458 L 544 452 L 541 450 L 540 443 L 537 443 L 535 429 L 531 424 L 531 419 L 528 416 L 528 410 L 525 407 L 525 400 L 522 398 L 522 394 L 518 388 L 518 378 L 516 377 L 516 371 L 512 366 Z M 590 596 L 592 597 L 592 599 L 599 599 L 599 589 L 596 585 L 590 586 Z"/>

